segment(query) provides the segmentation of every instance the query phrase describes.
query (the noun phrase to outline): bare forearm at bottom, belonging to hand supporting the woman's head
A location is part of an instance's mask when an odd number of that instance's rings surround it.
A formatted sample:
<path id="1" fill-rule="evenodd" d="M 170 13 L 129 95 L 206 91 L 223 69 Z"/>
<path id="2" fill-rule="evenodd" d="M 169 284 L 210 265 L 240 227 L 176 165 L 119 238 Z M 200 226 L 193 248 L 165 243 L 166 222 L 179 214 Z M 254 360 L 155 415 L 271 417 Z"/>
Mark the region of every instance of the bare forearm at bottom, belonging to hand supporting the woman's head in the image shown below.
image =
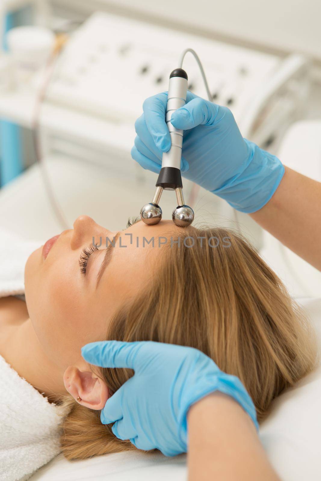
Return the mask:
<path id="1" fill-rule="evenodd" d="M 280 481 L 263 450 L 252 420 L 219 392 L 188 413 L 189 481 Z"/>

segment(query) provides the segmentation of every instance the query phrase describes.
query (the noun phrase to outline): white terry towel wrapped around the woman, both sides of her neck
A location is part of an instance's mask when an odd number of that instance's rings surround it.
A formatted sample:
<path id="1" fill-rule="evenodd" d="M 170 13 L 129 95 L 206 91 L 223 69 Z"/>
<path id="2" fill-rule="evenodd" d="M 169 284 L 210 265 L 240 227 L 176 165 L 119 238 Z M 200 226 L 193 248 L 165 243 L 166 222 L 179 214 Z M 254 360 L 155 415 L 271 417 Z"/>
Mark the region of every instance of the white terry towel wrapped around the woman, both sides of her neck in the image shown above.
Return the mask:
<path id="1" fill-rule="evenodd" d="M 0 297 L 23 294 L 28 256 L 42 242 L 0 230 Z M 60 452 L 66 408 L 48 402 L 0 356 L 0 480 L 26 481 Z"/>

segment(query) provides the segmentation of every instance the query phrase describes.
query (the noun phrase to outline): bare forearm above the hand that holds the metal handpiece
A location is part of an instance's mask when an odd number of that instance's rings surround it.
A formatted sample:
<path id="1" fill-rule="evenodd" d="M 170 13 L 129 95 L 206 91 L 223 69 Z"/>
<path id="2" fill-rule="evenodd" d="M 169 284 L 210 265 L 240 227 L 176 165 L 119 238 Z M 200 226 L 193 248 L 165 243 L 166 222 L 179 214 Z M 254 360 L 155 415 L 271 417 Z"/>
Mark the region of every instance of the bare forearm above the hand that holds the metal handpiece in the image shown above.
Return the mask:
<path id="1" fill-rule="evenodd" d="M 321 183 L 285 167 L 271 200 L 251 217 L 321 270 Z"/>

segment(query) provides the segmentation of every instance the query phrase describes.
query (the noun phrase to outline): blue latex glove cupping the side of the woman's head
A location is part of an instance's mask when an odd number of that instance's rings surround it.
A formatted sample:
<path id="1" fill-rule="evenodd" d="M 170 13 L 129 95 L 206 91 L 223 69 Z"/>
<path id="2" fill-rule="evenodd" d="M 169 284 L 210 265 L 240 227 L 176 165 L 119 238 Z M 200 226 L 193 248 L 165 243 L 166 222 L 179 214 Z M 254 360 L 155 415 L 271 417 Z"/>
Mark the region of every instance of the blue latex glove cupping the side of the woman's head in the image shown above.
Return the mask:
<path id="1" fill-rule="evenodd" d="M 161 342 L 92 342 L 81 350 L 90 364 L 129 367 L 134 376 L 115 392 L 101 412 L 103 424 L 115 423 L 117 438 L 137 448 L 157 448 L 166 456 L 187 451 L 186 415 L 206 394 L 234 398 L 257 426 L 256 410 L 241 381 L 220 371 L 197 349 Z"/>

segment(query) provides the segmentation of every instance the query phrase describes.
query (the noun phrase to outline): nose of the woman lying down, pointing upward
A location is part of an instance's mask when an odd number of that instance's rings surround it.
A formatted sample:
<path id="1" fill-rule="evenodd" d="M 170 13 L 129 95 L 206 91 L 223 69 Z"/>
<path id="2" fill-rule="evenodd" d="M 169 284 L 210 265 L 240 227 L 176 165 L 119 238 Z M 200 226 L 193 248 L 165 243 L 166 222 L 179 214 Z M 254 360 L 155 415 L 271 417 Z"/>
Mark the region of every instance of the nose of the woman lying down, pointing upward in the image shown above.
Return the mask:
<path id="1" fill-rule="evenodd" d="M 96 224 L 96 222 L 89 215 L 79 215 L 74 222 L 74 230 L 70 240 L 70 247 L 79 249 L 86 242 L 90 244 L 93 242 L 100 244 L 100 238 L 109 232 L 107 229 Z"/>

